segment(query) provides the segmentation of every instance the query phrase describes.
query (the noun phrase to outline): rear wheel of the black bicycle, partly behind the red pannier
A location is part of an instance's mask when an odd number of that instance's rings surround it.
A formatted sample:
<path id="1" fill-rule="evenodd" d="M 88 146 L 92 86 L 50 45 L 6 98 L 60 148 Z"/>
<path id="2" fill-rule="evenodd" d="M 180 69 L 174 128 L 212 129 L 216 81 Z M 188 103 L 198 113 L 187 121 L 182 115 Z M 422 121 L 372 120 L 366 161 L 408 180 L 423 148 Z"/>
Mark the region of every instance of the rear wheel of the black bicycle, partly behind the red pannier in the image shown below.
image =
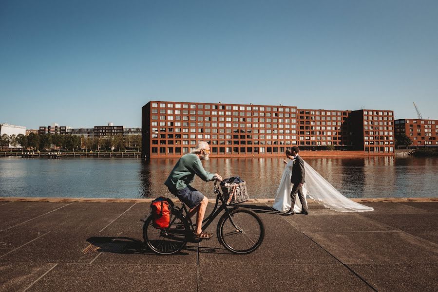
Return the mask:
<path id="1" fill-rule="evenodd" d="M 176 214 L 176 216 L 173 214 Z M 143 239 L 153 252 L 160 255 L 172 255 L 186 246 L 186 234 L 189 230 L 189 224 L 186 219 L 180 217 L 179 212 L 176 210 L 172 211 L 171 222 L 173 219 L 173 223 L 167 229 L 153 227 L 151 215 L 145 220 Z"/>

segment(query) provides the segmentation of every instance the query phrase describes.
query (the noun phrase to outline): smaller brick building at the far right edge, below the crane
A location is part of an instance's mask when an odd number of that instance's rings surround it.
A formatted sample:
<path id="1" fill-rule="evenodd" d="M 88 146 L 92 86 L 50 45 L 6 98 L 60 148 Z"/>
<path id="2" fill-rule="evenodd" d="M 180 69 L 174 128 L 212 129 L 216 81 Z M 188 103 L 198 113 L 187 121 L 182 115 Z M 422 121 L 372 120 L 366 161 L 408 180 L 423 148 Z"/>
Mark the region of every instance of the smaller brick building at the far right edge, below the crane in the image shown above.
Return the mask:
<path id="1" fill-rule="evenodd" d="M 400 119 L 395 121 L 396 134 L 406 134 L 411 146 L 438 146 L 438 120 Z"/>

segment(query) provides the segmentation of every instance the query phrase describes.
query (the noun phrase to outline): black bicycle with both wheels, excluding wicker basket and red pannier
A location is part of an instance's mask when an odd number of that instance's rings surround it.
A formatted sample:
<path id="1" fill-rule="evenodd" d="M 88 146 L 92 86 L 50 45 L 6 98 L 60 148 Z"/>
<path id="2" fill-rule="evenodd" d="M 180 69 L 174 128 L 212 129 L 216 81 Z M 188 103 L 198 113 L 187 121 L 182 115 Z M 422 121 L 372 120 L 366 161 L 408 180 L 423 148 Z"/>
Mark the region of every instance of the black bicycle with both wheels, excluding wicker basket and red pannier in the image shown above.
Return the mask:
<path id="1" fill-rule="evenodd" d="M 210 215 L 203 220 L 202 230 L 206 230 L 222 210 L 225 210 L 216 228 L 219 242 L 234 254 L 244 255 L 255 251 L 265 237 L 265 226 L 262 220 L 251 210 L 239 207 L 229 209 L 216 182 L 213 191 L 217 195 L 216 203 Z M 166 229 L 154 228 L 152 215 L 149 215 L 143 220 L 145 243 L 157 254 L 172 255 L 182 250 L 187 242 L 200 242 L 202 238 L 194 239 L 193 237 L 195 226 L 187 214 L 188 210 L 184 203 L 181 207 L 174 206 L 169 228 Z"/>

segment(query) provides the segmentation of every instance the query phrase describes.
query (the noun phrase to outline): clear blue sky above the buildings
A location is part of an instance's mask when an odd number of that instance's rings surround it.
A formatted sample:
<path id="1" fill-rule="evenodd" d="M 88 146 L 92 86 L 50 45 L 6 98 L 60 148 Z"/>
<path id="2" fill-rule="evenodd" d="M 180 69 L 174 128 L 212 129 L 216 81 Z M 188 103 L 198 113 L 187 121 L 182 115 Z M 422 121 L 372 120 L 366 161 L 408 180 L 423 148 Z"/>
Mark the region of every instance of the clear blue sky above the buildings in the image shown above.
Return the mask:
<path id="1" fill-rule="evenodd" d="M 0 1 L 0 122 L 141 126 L 150 100 L 438 119 L 438 1 Z"/>

